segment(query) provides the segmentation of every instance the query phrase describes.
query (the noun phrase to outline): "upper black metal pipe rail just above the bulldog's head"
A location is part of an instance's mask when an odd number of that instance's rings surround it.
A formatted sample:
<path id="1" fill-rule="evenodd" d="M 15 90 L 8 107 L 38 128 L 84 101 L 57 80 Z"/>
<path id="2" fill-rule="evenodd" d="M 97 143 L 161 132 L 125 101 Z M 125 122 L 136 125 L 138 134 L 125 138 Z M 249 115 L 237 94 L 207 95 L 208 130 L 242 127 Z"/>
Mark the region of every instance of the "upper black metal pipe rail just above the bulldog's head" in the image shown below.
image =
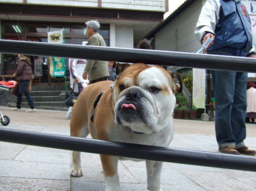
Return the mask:
<path id="1" fill-rule="evenodd" d="M 144 62 L 152 65 L 256 73 L 255 58 L 168 52 L 160 50 L 0 40 L 0 53 L 57 56 L 132 63 Z"/>

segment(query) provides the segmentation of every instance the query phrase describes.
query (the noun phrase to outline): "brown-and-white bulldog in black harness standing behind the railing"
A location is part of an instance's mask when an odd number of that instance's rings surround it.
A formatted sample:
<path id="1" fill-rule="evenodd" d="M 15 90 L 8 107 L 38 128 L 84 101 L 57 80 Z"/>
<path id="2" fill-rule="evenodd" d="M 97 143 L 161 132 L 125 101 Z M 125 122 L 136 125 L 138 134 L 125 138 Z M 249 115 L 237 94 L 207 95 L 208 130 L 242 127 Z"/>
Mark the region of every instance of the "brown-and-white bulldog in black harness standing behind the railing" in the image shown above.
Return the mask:
<path id="1" fill-rule="evenodd" d="M 174 92 L 182 91 L 180 76 L 144 63 L 119 65 L 117 72 L 115 82 L 90 84 L 80 93 L 72 111 L 71 136 L 90 133 L 104 141 L 167 147 L 173 137 Z M 118 160 L 141 161 L 107 155 L 100 159 L 106 191 L 120 190 Z M 160 191 L 162 162 L 146 160 L 146 169 L 147 188 Z M 72 152 L 71 175 L 83 175 L 78 151 Z"/>

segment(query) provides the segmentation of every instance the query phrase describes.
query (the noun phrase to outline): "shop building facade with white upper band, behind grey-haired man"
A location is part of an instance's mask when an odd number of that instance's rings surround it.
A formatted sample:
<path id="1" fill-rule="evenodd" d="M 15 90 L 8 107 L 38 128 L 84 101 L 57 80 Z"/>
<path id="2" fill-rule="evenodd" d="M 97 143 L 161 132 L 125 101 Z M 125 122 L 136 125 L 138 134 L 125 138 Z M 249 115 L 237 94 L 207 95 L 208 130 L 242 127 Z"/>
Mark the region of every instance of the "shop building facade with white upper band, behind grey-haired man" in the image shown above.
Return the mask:
<path id="1" fill-rule="evenodd" d="M 107 46 L 134 48 L 167 10 L 168 0 L 0 0 L 0 36 L 47 42 L 47 32 L 64 29 L 64 43 L 82 44 L 87 40 L 85 22 L 98 20 Z M 1 54 L 0 75 L 13 74 L 16 61 L 16 55 Z"/>

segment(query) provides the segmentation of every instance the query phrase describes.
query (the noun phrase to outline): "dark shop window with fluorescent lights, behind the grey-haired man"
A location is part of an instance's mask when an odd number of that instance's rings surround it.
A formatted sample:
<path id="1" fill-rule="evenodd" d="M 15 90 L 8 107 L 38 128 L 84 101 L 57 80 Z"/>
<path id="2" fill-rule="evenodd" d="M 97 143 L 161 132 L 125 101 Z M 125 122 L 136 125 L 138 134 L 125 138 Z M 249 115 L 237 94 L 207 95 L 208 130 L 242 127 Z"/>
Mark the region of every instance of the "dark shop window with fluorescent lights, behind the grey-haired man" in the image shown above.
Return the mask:
<path id="1" fill-rule="evenodd" d="M 48 42 L 48 31 L 64 29 L 64 44 L 79 44 L 88 41 L 85 34 L 85 24 L 70 24 L 70 23 L 34 23 L 34 22 L 9 22 L 2 21 L 2 39 L 32 41 L 32 42 Z M 100 27 L 99 33 L 103 36 L 106 45 L 109 46 L 109 25 L 103 24 Z M 37 58 L 33 56 L 33 58 Z M 17 55 L 3 54 L 1 74 L 13 74 L 16 70 Z"/>

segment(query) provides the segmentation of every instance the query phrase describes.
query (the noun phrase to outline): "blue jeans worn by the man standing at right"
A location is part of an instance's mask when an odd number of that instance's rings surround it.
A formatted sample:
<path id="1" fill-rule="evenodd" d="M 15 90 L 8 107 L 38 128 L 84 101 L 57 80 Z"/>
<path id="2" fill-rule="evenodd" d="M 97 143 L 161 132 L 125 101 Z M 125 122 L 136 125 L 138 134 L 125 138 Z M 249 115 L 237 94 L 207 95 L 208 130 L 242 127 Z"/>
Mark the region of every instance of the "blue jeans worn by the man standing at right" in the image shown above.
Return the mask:
<path id="1" fill-rule="evenodd" d="M 208 54 L 235 56 L 212 50 Z M 248 74 L 234 71 L 212 71 L 215 95 L 215 132 L 220 147 L 245 146 L 246 83 Z"/>

